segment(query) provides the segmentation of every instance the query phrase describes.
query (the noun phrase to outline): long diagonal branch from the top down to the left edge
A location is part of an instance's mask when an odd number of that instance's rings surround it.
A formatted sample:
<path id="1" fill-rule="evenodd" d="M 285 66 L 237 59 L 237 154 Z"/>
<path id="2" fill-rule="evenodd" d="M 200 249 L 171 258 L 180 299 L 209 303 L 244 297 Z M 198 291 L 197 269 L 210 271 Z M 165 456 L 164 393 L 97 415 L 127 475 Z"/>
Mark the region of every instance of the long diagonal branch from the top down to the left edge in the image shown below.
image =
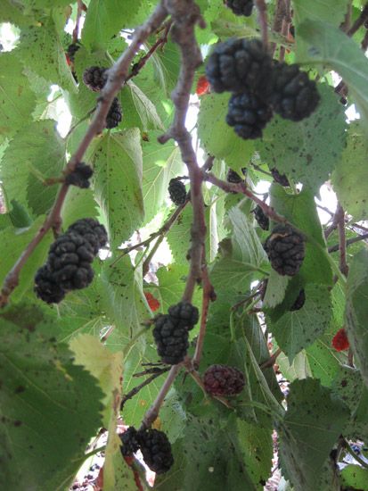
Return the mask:
<path id="1" fill-rule="evenodd" d="M 104 129 L 106 124 L 106 116 L 109 112 L 112 100 L 118 93 L 120 87 L 124 83 L 124 80 L 127 78 L 127 71 L 129 70 L 130 63 L 132 62 L 135 54 L 147 37 L 149 37 L 152 32 L 159 28 L 167 16 L 167 9 L 165 8 L 164 4 L 160 3 L 157 5 L 154 12 L 152 12 L 150 18 L 144 22 L 142 26 L 135 29 L 130 46 L 127 47 L 127 50 L 119 57 L 119 60 L 109 71 L 109 79 L 107 80 L 105 87 L 102 89 L 101 97 L 94 113 L 94 119 L 87 129 L 86 135 L 78 146 L 76 153 L 70 158 L 70 162 L 68 162 L 66 167 L 67 172 L 73 171 L 77 163 L 82 162 L 88 146 L 91 144 L 94 137 L 101 133 L 102 129 Z M 0 295 L 0 308 L 7 304 L 9 296 L 12 294 L 12 290 L 17 287 L 19 283 L 20 270 L 28 261 L 30 255 L 33 254 L 37 245 L 45 237 L 48 230 L 52 229 L 55 224 L 60 222 L 61 209 L 62 205 L 64 204 L 65 197 L 67 196 L 68 189 L 69 186 L 65 184 L 61 186 L 59 193 L 55 198 L 53 208 L 46 217 L 42 227 L 38 230 L 36 236 L 30 241 L 23 253 L 20 254 L 20 258 L 17 262 L 15 262 L 12 270 L 6 276 Z"/>

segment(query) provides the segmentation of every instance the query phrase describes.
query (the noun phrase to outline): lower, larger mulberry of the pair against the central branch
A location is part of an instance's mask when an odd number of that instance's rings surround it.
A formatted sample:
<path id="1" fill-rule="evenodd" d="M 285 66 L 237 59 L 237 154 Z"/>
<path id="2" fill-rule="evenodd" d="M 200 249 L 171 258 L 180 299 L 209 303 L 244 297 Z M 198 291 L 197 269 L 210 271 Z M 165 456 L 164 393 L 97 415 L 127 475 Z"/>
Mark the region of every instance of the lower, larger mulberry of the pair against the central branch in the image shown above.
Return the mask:
<path id="1" fill-rule="evenodd" d="M 188 329 L 170 315 L 159 315 L 155 319 L 153 337 L 158 354 L 164 363 L 176 365 L 183 362 L 188 351 Z"/>

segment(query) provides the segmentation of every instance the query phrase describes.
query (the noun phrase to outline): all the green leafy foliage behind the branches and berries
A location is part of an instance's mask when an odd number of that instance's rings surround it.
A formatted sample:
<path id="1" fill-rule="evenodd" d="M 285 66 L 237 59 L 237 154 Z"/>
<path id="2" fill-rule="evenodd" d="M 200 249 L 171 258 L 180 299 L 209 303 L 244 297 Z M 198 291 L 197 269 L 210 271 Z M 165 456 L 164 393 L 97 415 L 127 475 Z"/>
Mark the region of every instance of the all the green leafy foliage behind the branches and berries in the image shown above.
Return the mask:
<path id="1" fill-rule="evenodd" d="M 1 282 L 53 204 L 57 186 L 45 186 L 45 179 L 61 175 L 86 132 L 96 96 L 77 79 L 88 66 L 110 67 L 128 46 L 132 29 L 155 6 L 151 0 L 85 4 L 80 48 L 71 67 L 65 52 L 77 2 L 0 3 L 0 28 L 6 28 L 0 34 L 12 34 L 9 39 L 0 36 L 6 41 L 0 52 Z M 218 39 L 259 36 L 256 9 L 244 18 L 225 9 L 222 0 L 198 4 L 207 22 L 205 29 L 197 29 L 205 58 Z M 270 26 L 277 4 L 267 2 Z M 213 363 L 230 364 L 244 372 L 246 387 L 228 408 L 203 395 L 191 377 L 182 373 L 176 379 L 155 422 L 168 434 L 176 462 L 156 479 L 155 489 L 263 489 L 274 465 L 274 430 L 285 484 L 280 489 L 368 489 L 362 450 L 368 445 L 368 255 L 365 243 L 357 242 L 348 248 L 347 281 L 336 276 L 339 253 L 329 254 L 328 247 L 339 243 L 339 237 L 333 231 L 326 241 L 330 224 L 321 222 L 316 201 L 328 182 L 345 209 L 348 238 L 364 229 L 368 62 L 360 45 L 366 32 L 362 26 L 348 37 L 340 29 L 348 7 L 353 25 L 364 5 L 363 0 L 292 0 L 294 37 L 270 29 L 271 40 L 277 42 L 275 57 L 286 46 L 287 61 L 300 62 L 318 79 L 321 103 L 305 121 L 274 117 L 262 139 L 243 141 L 225 123 L 228 95 L 198 97 L 192 87 L 188 119 L 195 125 L 192 136 L 199 157 L 212 154 L 213 172 L 221 179 L 229 167 L 240 174 L 246 168 L 250 189 L 271 181 L 274 167 L 285 173 L 291 187 L 273 183 L 268 199 L 276 212 L 307 234 L 307 254 L 295 278 L 288 282 L 279 277 L 263 250 L 267 233 L 254 220 L 249 198 L 225 195 L 215 186 L 203 189 L 207 260 L 217 301 L 209 308 L 200 371 Z M 150 37 L 135 62 L 155 40 Z M 121 413 L 119 399 L 141 383 L 134 374 L 143 370 L 143 363 L 158 362 L 151 331 L 143 327 L 153 315 L 144 292 L 159 300 L 159 312 L 167 312 L 183 295 L 191 205 L 168 230 L 159 260 L 147 275 L 143 262 L 152 243 L 117 260 L 121 245 L 149 237 L 175 210 L 168 201 L 168 182 L 185 175 L 184 164 L 176 144 L 160 145 L 157 137 L 172 121 L 170 93 L 179 69 L 178 48 L 168 39 L 120 91 L 124 116 L 119 127 L 103 131 L 89 147 L 92 187 L 71 189 L 64 204 L 64 229 L 86 216 L 98 218 L 108 229 L 109 257 L 94 264 L 92 286 L 68 295 L 58 306 L 37 300 L 33 278 L 53 240 L 49 232 L 22 269 L 11 304 L 0 313 L 4 489 L 70 487 L 101 428 L 109 430 L 103 488 L 136 489 L 135 474 L 120 456 L 118 419 L 139 426 L 165 375 L 144 387 Z M 202 74 L 201 66 L 197 79 Z M 334 92 L 338 77 L 348 85 L 348 107 Z M 57 126 L 61 101 L 72 127 L 61 131 L 62 136 Z M 247 301 L 264 279 L 263 304 L 257 296 L 255 303 Z M 302 287 L 306 304 L 290 312 Z M 201 295 L 198 286 L 193 298 L 198 307 Z M 260 315 L 254 307 L 262 309 Z M 338 353 L 331 345 L 341 328 L 348 332 L 353 366 L 348 366 L 347 352 Z M 197 335 L 198 327 L 192 340 Z M 263 364 L 269 349 L 274 353 L 278 348 L 276 379 L 274 367 Z M 281 379 L 290 381 L 288 395 L 280 390 Z M 358 442 L 361 462 L 341 465 L 347 449 L 340 436 Z"/>

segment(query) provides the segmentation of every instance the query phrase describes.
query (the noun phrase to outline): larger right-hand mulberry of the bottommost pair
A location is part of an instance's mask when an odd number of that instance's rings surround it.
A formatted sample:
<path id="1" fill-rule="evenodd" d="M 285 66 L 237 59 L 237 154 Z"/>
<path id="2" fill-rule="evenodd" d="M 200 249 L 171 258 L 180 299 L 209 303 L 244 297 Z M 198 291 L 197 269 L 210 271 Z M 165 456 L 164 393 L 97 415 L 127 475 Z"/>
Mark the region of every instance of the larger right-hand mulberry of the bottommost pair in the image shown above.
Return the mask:
<path id="1" fill-rule="evenodd" d="M 139 441 L 143 461 L 148 467 L 156 474 L 168 472 L 174 463 L 174 458 L 165 433 L 159 429 L 144 429 L 139 431 Z"/>

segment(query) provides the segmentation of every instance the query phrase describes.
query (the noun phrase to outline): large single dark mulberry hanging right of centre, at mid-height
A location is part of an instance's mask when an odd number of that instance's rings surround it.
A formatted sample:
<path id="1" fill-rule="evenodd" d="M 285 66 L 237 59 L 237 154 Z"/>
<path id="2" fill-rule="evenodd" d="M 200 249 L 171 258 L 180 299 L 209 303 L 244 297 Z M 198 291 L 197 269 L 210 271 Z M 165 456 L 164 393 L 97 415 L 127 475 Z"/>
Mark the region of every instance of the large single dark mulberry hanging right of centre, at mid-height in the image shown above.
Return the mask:
<path id="1" fill-rule="evenodd" d="M 297 274 L 305 256 L 305 239 L 290 225 L 276 225 L 264 245 L 271 266 L 282 276 Z"/>

